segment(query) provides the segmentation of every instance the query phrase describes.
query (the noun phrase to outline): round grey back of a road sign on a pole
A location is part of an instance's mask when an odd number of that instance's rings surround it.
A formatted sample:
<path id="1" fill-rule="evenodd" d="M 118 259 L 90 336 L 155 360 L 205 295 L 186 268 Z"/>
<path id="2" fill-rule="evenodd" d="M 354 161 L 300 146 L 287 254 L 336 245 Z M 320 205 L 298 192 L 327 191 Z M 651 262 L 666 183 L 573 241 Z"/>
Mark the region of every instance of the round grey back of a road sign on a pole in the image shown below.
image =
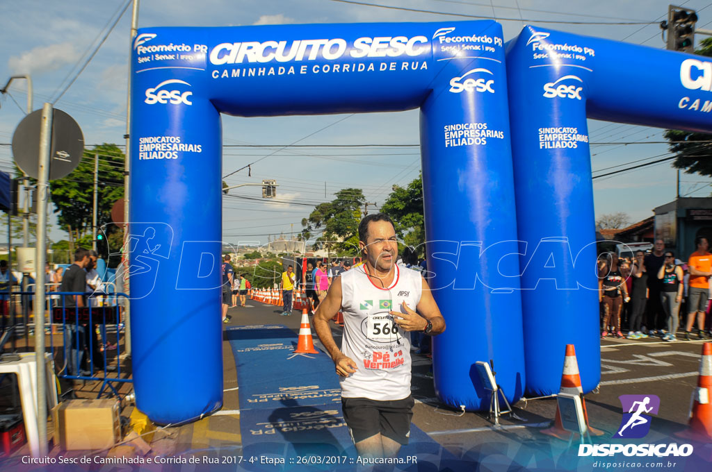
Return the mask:
<path id="1" fill-rule="evenodd" d="M 12 135 L 15 163 L 32 178 L 39 178 L 41 124 L 42 110 L 37 109 L 24 117 Z M 83 153 L 84 136 L 81 128 L 61 109 L 54 109 L 49 180 L 53 181 L 71 173 L 79 165 Z"/>

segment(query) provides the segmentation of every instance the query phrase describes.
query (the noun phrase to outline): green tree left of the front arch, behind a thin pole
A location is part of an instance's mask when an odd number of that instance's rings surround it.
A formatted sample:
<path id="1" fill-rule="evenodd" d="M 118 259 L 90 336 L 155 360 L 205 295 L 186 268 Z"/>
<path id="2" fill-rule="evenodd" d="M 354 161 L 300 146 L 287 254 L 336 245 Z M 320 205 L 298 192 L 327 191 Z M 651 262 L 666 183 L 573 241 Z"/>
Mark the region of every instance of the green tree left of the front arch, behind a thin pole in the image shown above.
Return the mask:
<path id="1" fill-rule="evenodd" d="M 97 227 L 111 223 L 111 208 L 124 196 L 125 156 L 114 144 L 101 144 L 85 150 L 83 159 L 72 173 L 52 181 L 52 202 L 59 224 L 69 232 L 70 250 L 74 249 L 75 241 L 91 234 L 95 153 L 99 154 Z M 118 230 L 115 225 L 108 227 Z"/>

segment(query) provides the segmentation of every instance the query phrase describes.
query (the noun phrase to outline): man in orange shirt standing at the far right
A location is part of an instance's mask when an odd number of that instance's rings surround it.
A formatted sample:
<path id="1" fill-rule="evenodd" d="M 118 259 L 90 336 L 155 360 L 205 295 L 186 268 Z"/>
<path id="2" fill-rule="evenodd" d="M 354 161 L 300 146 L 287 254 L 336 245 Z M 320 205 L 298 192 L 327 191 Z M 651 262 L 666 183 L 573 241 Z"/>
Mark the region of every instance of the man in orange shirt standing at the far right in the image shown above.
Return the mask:
<path id="1" fill-rule="evenodd" d="M 689 297 L 687 300 L 687 326 L 685 327 L 685 339 L 690 340 L 690 330 L 695 321 L 697 313 L 697 328 L 700 339 L 705 339 L 705 311 L 707 309 L 707 299 L 709 293 L 709 277 L 712 276 L 712 254 L 708 252 L 709 243 L 704 237 L 695 239 L 697 250 L 690 254 L 687 262 L 690 272 Z"/>

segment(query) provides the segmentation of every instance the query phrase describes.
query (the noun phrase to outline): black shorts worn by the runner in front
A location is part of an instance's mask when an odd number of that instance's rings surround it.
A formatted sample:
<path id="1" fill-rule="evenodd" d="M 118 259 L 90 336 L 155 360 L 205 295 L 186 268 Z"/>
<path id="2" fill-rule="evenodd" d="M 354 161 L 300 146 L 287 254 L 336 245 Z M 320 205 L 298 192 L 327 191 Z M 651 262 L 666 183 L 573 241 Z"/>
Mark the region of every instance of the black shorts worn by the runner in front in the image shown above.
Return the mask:
<path id="1" fill-rule="evenodd" d="M 354 444 L 379 433 L 399 444 L 408 444 L 414 404 L 413 397 L 383 402 L 368 398 L 341 399 Z"/>

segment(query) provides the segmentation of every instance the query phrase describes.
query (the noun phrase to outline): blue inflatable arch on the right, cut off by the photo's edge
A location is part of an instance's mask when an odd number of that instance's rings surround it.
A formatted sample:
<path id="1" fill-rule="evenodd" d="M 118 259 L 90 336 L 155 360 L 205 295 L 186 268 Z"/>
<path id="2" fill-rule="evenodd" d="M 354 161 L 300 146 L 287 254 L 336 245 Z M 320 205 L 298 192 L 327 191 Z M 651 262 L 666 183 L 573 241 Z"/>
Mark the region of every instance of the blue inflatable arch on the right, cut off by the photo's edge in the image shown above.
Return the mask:
<path id="1" fill-rule="evenodd" d="M 507 44 L 526 387 L 560 387 L 574 344 L 584 392 L 600 382 L 593 186 L 586 118 L 712 131 L 712 62 L 525 27 Z M 536 248 L 534 250 L 534 248 Z"/>

